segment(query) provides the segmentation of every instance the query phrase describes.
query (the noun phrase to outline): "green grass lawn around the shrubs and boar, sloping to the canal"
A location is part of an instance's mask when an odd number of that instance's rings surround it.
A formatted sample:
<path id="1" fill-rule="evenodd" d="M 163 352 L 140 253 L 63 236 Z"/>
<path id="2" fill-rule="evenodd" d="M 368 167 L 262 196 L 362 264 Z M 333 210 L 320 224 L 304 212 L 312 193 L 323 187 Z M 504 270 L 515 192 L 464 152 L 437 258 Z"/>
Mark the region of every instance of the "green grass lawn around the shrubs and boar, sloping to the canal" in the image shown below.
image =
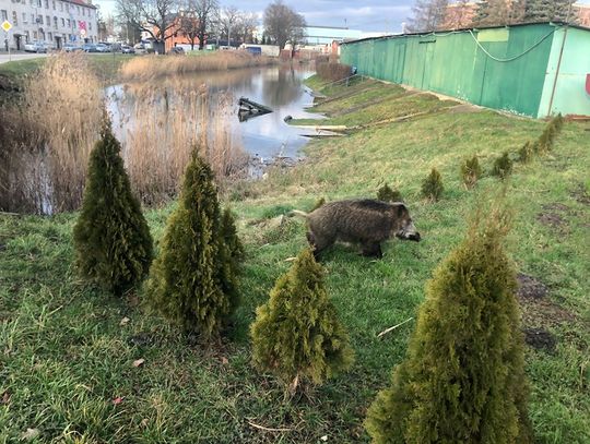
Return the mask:
<path id="1" fill-rule="evenodd" d="M 462 239 L 470 213 L 502 188 L 487 173 L 494 158 L 516 153 L 545 123 L 465 112 L 371 81 L 327 93 L 341 98 L 318 107 L 331 117 L 322 123 L 368 127 L 314 141 L 296 168 L 272 170 L 228 193 L 247 259 L 243 305 L 214 349 L 188 344 L 148 314 L 141 290 L 120 300 L 84 285 L 72 266 L 76 214 L 0 216 L 0 443 L 17 441 L 28 428 L 38 431 L 32 440 L 38 443 L 368 442 L 366 409 L 403 359 L 415 322 L 382 339 L 376 335 L 415 316 L 426 280 Z M 416 111 L 433 113 L 370 125 Z M 521 299 L 523 326 L 556 340 L 554 349 L 527 348 L 540 443 L 590 442 L 589 131 L 588 122 L 566 122 L 552 153 L 516 164 L 506 181 L 515 211 L 510 253 L 520 273 L 547 289 Z M 486 175 L 468 191 L 459 165 L 473 154 Z M 420 196 L 432 167 L 445 181 L 434 204 Z M 345 245 L 326 253 L 327 287 L 356 361 L 309 396 L 284 401 L 278 382 L 251 368 L 248 339 L 256 308 L 291 264 L 285 260 L 306 247 L 300 220 L 273 218 L 309 209 L 319 197 L 374 196 L 385 181 L 401 191 L 423 241 L 390 241 L 381 261 Z M 146 213 L 154 239 L 172 207 Z M 140 358 L 145 362 L 134 367 Z"/>

